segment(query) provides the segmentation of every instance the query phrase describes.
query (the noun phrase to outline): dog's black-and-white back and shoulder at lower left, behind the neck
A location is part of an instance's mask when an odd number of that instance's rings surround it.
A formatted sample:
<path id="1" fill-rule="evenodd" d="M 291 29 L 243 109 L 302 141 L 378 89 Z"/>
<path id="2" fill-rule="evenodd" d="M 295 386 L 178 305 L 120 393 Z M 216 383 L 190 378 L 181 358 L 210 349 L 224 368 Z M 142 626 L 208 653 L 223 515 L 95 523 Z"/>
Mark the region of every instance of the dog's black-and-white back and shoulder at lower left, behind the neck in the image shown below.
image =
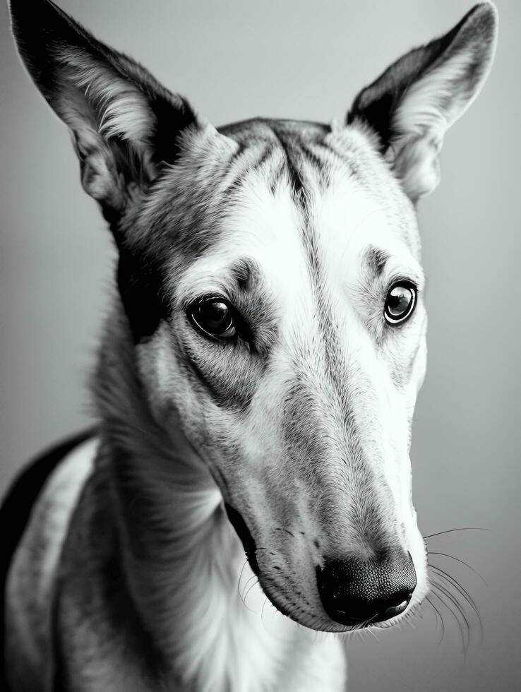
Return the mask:
<path id="1" fill-rule="evenodd" d="M 5 537 L 5 651 L 16 689 L 37 689 L 48 662 L 49 614 L 56 568 L 78 497 L 92 471 L 92 432 L 44 453 L 20 474 L 0 512 Z"/>

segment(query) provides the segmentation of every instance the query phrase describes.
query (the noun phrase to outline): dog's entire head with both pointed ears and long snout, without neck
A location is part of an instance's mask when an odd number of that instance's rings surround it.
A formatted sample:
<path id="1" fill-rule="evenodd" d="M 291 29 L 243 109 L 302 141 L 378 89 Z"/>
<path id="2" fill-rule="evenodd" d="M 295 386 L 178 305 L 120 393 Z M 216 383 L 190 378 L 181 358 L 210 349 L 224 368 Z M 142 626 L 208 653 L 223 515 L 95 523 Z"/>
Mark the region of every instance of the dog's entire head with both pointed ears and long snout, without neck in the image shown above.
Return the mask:
<path id="1" fill-rule="evenodd" d="M 11 8 L 114 233 L 152 412 L 208 465 L 265 593 L 326 631 L 405 613 L 427 589 L 415 204 L 489 71 L 495 9 L 397 60 L 343 126 L 215 129 L 52 3 Z"/>

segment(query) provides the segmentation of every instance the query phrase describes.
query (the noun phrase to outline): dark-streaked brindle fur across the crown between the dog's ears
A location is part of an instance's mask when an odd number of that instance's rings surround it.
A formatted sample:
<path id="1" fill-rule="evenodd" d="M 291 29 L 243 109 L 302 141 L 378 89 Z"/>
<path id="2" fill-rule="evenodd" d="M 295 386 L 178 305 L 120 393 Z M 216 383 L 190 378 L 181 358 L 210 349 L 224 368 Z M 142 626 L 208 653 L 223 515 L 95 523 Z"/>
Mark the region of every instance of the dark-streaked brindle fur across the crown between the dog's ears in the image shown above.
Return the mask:
<path id="1" fill-rule="evenodd" d="M 166 167 L 138 213 L 145 241 L 149 230 L 166 235 L 184 260 L 215 244 L 222 232 L 218 222 L 252 174 L 261 173 L 259 184 L 269 182 L 273 192 L 289 181 L 304 213 L 305 201 L 323 191 L 333 169 L 342 168 L 364 189 L 380 191 L 383 174 L 386 181 L 392 178 L 371 138 L 356 127 L 332 131 L 319 123 L 254 119 L 224 126 L 220 133 L 224 136 L 187 132 L 176 165 Z"/>

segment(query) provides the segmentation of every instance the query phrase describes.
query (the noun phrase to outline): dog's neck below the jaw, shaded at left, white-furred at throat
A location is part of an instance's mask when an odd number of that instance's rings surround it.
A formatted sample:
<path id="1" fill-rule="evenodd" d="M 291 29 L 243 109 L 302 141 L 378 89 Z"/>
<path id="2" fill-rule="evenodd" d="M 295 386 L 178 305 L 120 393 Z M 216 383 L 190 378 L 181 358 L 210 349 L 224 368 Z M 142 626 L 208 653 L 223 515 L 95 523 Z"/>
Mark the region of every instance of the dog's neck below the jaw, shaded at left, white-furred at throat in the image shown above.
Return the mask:
<path id="1" fill-rule="evenodd" d="M 140 621 L 165 676 L 183 688 L 280 688 L 282 660 L 304 655 L 313 633 L 267 604 L 208 468 L 179 429 L 152 419 L 125 335 L 121 321 L 119 333 L 109 330 L 95 399 L 121 560 Z M 248 589 L 246 605 L 241 592 Z"/>

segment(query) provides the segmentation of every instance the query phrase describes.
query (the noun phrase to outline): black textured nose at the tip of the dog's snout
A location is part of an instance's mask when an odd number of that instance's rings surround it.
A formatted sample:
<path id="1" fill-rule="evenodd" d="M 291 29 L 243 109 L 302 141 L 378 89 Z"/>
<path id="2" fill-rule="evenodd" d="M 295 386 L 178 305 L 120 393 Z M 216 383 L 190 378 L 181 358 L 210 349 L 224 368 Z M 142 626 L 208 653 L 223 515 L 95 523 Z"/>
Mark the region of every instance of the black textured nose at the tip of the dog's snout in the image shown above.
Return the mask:
<path id="1" fill-rule="evenodd" d="M 409 554 L 383 560 L 337 560 L 317 568 L 325 612 L 342 625 L 383 622 L 404 612 L 416 586 Z"/>

